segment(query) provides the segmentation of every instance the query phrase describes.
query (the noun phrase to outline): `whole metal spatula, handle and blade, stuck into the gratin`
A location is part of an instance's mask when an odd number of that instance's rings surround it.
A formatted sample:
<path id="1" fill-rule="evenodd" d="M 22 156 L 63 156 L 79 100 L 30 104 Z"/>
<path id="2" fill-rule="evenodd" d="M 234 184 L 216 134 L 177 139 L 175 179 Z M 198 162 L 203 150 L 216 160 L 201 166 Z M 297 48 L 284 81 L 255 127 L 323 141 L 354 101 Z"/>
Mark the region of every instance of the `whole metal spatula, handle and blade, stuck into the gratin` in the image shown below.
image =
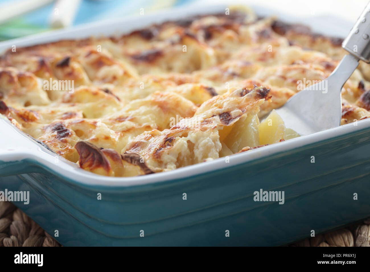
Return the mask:
<path id="1" fill-rule="evenodd" d="M 370 2 L 357 19 L 342 47 L 350 54 L 343 57 L 330 76 L 293 95 L 277 109 L 285 126 L 300 135 L 312 134 L 340 125 L 342 101 L 340 91 L 359 65 L 370 63 Z"/>

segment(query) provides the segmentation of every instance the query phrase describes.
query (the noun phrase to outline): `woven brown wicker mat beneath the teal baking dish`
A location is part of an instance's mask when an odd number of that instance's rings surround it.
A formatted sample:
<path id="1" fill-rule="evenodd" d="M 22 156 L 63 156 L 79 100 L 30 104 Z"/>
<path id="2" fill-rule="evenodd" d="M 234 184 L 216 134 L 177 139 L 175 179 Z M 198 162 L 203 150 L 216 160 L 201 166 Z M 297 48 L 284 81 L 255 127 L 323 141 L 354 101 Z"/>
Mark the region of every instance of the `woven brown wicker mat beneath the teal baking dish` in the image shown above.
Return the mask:
<path id="1" fill-rule="evenodd" d="M 289 246 L 369 246 L 370 219 Z M 0 202 L 0 246 L 61 246 L 11 202 Z"/>

